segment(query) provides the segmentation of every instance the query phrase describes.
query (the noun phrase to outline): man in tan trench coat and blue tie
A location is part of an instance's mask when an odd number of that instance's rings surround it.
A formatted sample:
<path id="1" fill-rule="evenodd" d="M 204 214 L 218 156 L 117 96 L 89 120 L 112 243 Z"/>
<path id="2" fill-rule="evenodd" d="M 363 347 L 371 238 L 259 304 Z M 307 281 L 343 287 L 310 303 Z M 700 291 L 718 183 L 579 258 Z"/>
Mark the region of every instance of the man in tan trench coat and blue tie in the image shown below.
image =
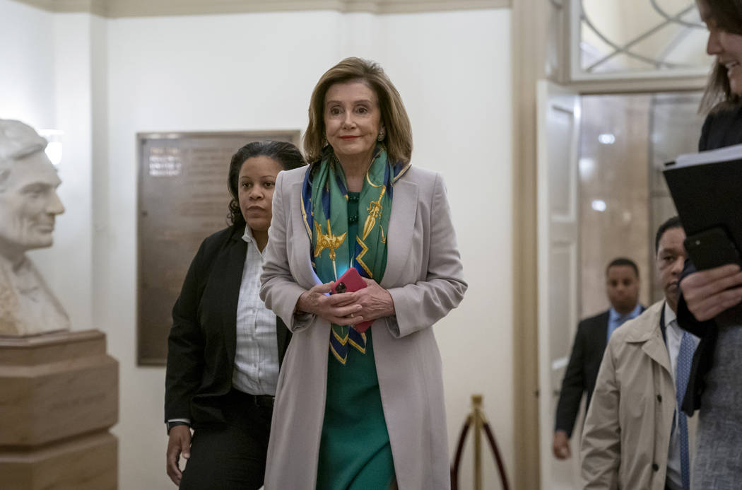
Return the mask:
<path id="1" fill-rule="evenodd" d="M 655 251 L 665 299 L 623 324 L 608 341 L 582 433 L 583 489 L 686 490 L 675 401 L 683 333 L 674 313 L 684 239 L 677 218 L 660 226 Z M 695 348 L 698 339 L 693 341 Z M 688 422 L 692 458 L 695 417 Z"/>

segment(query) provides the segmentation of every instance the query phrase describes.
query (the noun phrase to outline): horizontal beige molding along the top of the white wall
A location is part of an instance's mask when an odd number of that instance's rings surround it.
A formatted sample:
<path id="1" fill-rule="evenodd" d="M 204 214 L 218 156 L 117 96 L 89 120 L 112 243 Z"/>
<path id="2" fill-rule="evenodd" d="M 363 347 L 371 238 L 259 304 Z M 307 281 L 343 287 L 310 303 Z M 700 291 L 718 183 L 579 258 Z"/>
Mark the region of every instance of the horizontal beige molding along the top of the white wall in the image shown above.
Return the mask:
<path id="1" fill-rule="evenodd" d="M 335 10 L 375 14 L 510 8 L 513 0 L 16 0 L 59 13 L 103 17 L 189 16 L 224 13 Z"/>

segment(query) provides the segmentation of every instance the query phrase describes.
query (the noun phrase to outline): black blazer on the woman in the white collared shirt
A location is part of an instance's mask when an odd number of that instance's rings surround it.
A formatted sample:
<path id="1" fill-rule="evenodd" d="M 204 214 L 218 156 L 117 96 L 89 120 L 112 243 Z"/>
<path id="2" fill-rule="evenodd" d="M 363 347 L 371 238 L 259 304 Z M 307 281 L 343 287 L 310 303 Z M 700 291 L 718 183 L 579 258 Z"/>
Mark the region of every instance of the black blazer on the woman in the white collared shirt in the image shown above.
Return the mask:
<path id="1" fill-rule="evenodd" d="M 191 262 L 168 336 L 165 421 L 224 422 L 220 398 L 232 389 L 237 300 L 247 254 L 244 229 L 230 227 L 203 241 Z M 291 333 L 276 318 L 278 359 Z"/>

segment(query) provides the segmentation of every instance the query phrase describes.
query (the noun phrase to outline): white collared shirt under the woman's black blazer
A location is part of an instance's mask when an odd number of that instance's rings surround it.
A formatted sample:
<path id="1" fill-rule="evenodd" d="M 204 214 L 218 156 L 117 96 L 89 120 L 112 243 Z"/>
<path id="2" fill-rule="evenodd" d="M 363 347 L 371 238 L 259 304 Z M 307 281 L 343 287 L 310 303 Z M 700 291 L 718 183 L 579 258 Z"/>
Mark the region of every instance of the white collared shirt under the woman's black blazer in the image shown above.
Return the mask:
<path id="1" fill-rule="evenodd" d="M 247 242 L 247 257 L 237 300 L 237 349 L 232 385 L 252 395 L 275 395 L 278 382 L 276 316 L 260 299 L 263 254 L 249 226 L 245 226 L 242 239 Z"/>

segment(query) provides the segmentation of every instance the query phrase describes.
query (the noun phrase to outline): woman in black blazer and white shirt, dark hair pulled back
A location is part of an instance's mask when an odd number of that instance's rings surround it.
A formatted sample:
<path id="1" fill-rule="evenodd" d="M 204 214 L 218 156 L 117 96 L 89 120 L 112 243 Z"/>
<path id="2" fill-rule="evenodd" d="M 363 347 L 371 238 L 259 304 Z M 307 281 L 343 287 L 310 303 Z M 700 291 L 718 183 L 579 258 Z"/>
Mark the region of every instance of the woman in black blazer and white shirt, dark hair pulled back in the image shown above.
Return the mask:
<path id="1" fill-rule="evenodd" d="M 173 307 L 165 373 L 167 473 L 180 489 L 259 489 L 291 333 L 260 301 L 278 172 L 291 143 L 249 143 L 229 165 L 231 226 L 203 241 Z M 193 436 L 191 437 L 191 429 Z M 180 455 L 188 460 L 183 471 Z"/>

